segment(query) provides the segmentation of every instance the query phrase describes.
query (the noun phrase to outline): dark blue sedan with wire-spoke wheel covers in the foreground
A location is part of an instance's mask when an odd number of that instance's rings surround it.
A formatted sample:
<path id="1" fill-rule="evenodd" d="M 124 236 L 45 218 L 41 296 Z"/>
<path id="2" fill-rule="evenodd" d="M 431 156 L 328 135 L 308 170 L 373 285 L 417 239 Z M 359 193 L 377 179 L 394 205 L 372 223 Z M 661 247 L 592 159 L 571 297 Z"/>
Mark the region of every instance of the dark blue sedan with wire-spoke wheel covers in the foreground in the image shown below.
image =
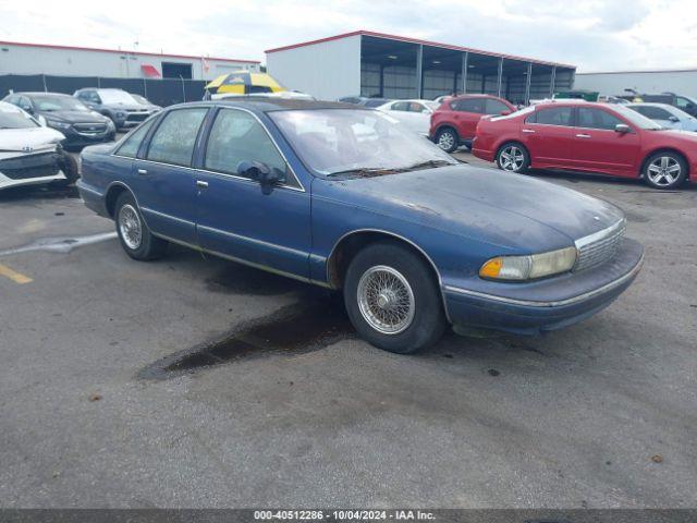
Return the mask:
<path id="1" fill-rule="evenodd" d="M 411 353 L 449 324 L 537 333 L 636 277 L 622 211 L 458 163 L 379 111 L 241 99 L 171 107 L 82 155 L 85 204 L 135 259 L 178 243 L 343 291 L 356 330 Z"/>

